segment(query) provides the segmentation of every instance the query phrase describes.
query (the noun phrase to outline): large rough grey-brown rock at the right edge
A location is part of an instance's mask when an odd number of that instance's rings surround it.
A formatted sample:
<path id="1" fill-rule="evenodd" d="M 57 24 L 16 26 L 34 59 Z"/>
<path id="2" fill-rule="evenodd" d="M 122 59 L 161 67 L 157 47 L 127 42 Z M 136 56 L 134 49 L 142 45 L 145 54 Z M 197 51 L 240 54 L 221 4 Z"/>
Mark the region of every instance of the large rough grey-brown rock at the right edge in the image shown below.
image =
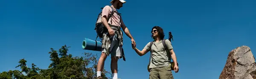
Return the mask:
<path id="1" fill-rule="evenodd" d="M 256 79 L 256 63 L 248 46 L 230 51 L 219 79 Z"/>

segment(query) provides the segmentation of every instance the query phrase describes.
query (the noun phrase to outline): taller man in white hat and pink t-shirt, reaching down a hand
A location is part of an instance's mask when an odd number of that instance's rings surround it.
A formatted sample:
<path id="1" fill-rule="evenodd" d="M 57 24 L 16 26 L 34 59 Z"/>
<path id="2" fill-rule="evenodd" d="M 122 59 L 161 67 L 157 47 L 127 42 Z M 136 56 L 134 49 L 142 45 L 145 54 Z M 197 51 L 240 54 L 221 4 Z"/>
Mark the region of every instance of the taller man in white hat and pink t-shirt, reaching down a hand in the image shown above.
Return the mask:
<path id="1" fill-rule="evenodd" d="M 104 33 L 102 36 L 102 54 L 99 58 L 97 65 L 97 79 L 102 79 L 101 73 L 104 68 L 105 59 L 109 54 L 111 54 L 111 71 L 113 79 L 117 79 L 117 61 L 120 58 L 123 58 L 125 61 L 124 51 L 122 49 L 123 37 L 122 31 L 125 31 L 125 34 L 131 38 L 132 44 L 135 44 L 134 38 L 131 36 L 128 28 L 125 26 L 122 17 L 117 12 L 116 9 L 120 9 L 123 3 L 126 3 L 125 0 L 112 0 L 110 2 L 111 6 L 105 6 L 102 9 L 102 23 L 108 29 L 108 32 Z M 107 17 L 112 16 L 107 21 Z"/>

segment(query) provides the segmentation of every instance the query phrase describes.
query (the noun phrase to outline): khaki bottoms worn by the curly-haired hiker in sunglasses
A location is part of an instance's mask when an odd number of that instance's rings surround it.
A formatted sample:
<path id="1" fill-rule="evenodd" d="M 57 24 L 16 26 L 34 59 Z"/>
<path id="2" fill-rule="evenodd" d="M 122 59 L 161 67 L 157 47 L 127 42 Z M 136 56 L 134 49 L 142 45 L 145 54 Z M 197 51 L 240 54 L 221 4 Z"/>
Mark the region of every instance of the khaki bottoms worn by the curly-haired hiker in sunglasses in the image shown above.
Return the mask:
<path id="1" fill-rule="evenodd" d="M 152 68 L 149 79 L 174 79 L 172 76 L 171 66 L 163 66 L 160 68 Z"/>

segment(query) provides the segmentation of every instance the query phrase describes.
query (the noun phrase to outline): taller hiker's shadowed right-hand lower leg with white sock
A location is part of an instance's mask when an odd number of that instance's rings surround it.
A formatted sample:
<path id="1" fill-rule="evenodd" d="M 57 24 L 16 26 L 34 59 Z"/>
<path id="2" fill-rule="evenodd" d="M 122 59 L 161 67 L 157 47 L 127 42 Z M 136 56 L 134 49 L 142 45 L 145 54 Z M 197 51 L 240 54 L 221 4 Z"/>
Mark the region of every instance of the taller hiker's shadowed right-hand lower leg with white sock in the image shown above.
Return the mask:
<path id="1" fill-rule="evenodd" d="M 113 79 L 117 79 L 117 61 L 118 58 L 116 56 L 111 57 L 111 71 Z"/>

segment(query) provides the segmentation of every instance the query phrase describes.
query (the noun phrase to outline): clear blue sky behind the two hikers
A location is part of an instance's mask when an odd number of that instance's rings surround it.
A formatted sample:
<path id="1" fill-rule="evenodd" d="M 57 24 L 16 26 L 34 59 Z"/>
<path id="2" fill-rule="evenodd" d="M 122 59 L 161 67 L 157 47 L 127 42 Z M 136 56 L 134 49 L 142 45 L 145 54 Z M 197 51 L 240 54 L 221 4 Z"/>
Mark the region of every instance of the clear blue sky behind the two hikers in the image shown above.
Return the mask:
<path id="1" fill-rule="evenodd" d="M 99 1 L 99 2 L 97 2 Z M 49 48 L 71 46 L 69 53 L 99 53 L 81 48 L 96 37 L 94 25 L 101 7 L 111 0 L 1 0 L 0 72 L 15 68 L 19 59 L 47 68 Z M 172 31 L 179 62 L 175 79 L 218 79 L 231 50 L 247 45 L 256 55 L 255 0 L 127 0 L 119 10 L 140 50 L 150 41 L 151 28 Z M 165 37 L 166 39 L 168 37 Z M 124 36 L 126 62 L 118 62 L 121 79 L 148 79 L 150 53 L 139 56 Z M 110 58 L 105 63 L 110 71 Z M 139 78 L 142 77 L 142 78 Z"/>

